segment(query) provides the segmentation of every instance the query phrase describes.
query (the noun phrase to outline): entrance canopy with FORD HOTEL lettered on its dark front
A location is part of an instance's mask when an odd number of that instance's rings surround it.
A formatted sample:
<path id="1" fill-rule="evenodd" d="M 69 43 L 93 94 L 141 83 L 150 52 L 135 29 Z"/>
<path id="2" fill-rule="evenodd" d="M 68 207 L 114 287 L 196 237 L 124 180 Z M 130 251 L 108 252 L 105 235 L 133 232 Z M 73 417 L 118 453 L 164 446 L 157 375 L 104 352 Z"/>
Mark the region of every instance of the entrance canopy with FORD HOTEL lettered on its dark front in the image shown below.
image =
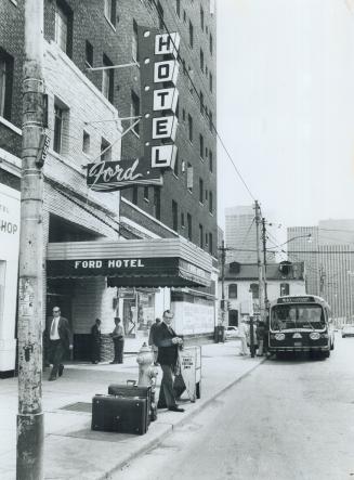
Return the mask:
<path id="1" fill-rule="evenodd" d="M 184 238 L 50 243 L 48 278 L 107 277 L 116 287 L 209 286 L 211 257 Z"/>

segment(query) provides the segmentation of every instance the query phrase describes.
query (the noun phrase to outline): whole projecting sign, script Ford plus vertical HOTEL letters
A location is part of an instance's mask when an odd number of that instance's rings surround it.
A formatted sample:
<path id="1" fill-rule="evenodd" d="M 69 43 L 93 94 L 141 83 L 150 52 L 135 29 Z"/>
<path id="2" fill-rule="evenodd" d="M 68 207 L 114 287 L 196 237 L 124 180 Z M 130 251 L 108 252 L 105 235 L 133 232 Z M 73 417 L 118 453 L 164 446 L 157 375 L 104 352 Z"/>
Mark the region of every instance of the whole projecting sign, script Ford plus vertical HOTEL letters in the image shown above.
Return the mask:
<path id="1" fill-rule="evenodd" d="M 144 156 L 89 164 L 87 184 L 96 192 L 162 185 L 162 169 L 174 167 L 180 35 L 158 31 L 139 27 Z"/>

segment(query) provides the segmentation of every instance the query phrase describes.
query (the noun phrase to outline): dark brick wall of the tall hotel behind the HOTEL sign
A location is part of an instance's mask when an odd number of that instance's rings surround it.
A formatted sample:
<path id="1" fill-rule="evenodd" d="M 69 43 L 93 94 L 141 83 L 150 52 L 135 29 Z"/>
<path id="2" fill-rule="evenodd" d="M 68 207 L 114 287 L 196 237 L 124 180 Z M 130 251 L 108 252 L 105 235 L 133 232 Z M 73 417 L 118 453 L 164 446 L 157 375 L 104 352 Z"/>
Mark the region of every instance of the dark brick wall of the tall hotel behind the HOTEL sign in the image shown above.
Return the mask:
<path id="1" fill-rule="evenodd" d="M 93 66 L 102 66 L 103 54 L 107 55 L 113 64 L 129 63 L 132 60 L 132 35 L 133 21 L 137 24 L 157 26 L 158 18 L 153 1 L 149 0 L 119 0 L 117 2 L 116 28 L 107 22 L 103 12 L 103 0 L 78 1 L 67 0 L 67 5 L 73 10 L 73 55 L 75 64 L 86 73 L 87 77 L 101 90 L 102 72 L 87 72 L 86 69 L 86 40 L 93 46 Z M 204 92 L 205 105 L 212 112 L 212 118 L 217 119 L 217 75 L 215 75 L 215 17 L 209 13 L 209 0 L 189 1 L 181 0 L 181 17 L 175 13 L 175 2 L 160 0 L 163 9 L 163 17 L 170 31 L 179 30 L 181 34 L 180 54 L 185 61 L 186 68 L 193 68 L 193 80 L 197 91 Z M 205 29 L 200 27 L 200 5 L 205 11 Z M 16 8 L 10 0 L 0 2 L 0 46 L 15 57 L 15 80 L 13 90 L 13 119 L 17 127 L 21 126 L 21 77 L 23 65 L 23 8 L 24 0 L 18 0 Z M 44 37 L 48 41 L 54 39 L 54 0 L 44 1 Z M 185 16 L 185 21 L 184 21 Z M 5 22 L 2 18 L 6 18 Z M 194 25 L 194 47 L 188 47 L 188 23 Z M 4 25 L 2 25 L 4 24 Z M 208 33 L 207 28 L 208 27 Z M 209 52 L 209 35 L 213 37 L 213 55 Z M 204 51 L 206 70 L 199 67 L 199 51 Z M 213 77 L 213 92 L 209 91 L 209 72 Z M 212 233 L 213 254 L 217 252 L 217 139 L 214 132 L 209 129 L 209 118 L 200 113 L 199 99 L 196 92 L 189 92 L 187 76 L 180 67 L 178 81 L 180 91 L 180 125 L 178 128 L 176 145 L 179 147 L 179 171 L 178 176 L 166 172 L 163 186 L 161 189 L 161 217 L 160 220 L 172 228 L 172 199 L 178 203 L 179 228 L 178 232 L 187 237 L 187 229 L 181 226 L 181 213 L 184 213 L 185 223 L 187 213 L 193 219 L 193 242 L 199 245 L 199 223 L 204 226 L 204 233 Z M 140 73 L 136 67 L 115 70 L 114 100 L 119 116 L 130 116 L 131 91 L 140 96 Z M 187 119 L 188 114 L 194 119 L 194 142 L 187 137 L 187 121 L 183 121 L 183 111 Z M 128 124 L 129 125 L 129 124 Z M 127 127 L 127 122 L 124 124 Z M 0 131 L 1 133 L 1 131 Z M 199 133 L 204 135 L 205 148 L 212 152 L 213 171 L 209 171 L 209 159 L 200 159 Z M 0 137 L 1 140 L 3 137 Z M 5 139 L 8 148 L 18 155 L 19 144 Z M 122 158 L 131 158 L 142 154 L 141 140 L 132 132 L 128 133 L 122 141 Z M 194 167 L 193 192 L 186 187 L 186 171 L 182 172 L 182 161 Z M 199 204 L 199 178 L 204 180 L 205 191 L 213 194 L 213 213 L 209 212 L 209 202 L 204 193 L 204 203 Z M 137 189 L 137 206 L 144 211 L 153 215 L 153 187 L 148 189 L 149 200 L 143 197 L 143 187 Z M 132 189 L 122 192 L 122 195 L 132 200 Z M 205 236 L 205 235 L 204 235 Z M 205 242 L 205 238 L 204 238 Z M 205 245 L 208 250 L 209 247 Z"/>

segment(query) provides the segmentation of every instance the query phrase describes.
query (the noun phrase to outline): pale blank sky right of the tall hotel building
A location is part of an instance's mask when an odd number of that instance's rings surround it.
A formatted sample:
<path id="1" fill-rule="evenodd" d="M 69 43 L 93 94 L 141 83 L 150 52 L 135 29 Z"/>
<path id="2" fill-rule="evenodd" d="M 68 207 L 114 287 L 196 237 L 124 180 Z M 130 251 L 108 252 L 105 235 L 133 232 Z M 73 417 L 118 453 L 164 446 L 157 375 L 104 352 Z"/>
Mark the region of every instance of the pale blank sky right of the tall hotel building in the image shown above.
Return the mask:
<path id="1" fill-rule="evenodd" d="M 217 0 L 218 131 L 263 216 L 354 218 L 354 0 Z M 218 145 L 218 211 L 253 198 Z M 280 235 L 281 236 L 281 235 Z"/>

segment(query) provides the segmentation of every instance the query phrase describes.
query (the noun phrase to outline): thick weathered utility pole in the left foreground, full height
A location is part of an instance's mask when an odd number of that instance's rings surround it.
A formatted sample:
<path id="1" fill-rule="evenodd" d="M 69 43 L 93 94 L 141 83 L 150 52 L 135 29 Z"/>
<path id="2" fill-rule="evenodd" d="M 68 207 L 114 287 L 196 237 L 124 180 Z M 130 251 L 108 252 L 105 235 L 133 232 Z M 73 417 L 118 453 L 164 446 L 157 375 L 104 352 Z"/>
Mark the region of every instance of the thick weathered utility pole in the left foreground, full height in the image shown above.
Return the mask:
<path id="1" fill-rule="evenodd" d="M 25 0 L 18 287 L 17 480 L 43 479 L 43 0 Z"/>

